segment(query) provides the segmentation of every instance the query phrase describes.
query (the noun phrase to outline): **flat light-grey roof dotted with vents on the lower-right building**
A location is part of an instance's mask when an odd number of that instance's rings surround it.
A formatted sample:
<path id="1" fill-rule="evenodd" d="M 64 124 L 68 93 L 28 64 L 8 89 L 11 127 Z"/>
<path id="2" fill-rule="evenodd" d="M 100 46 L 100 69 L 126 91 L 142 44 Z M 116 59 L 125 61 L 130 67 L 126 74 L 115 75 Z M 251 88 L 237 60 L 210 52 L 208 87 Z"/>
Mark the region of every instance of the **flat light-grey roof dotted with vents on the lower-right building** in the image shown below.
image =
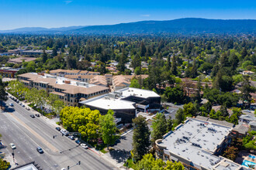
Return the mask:
<path id="1" fill-rule="evenodd" d="M 211 169 L 222 158 L 213 155 L 231 128 L 190 118 L 162 140 L 171 155 L 185 158 L 195 165 Z M 184 138 L 185 137 L 185 138 Z M 181 141 L 179 141 L 182 139 Z M 196 145 L 192 145 L 192 144 Z M 199 147 L 200 146 L 200 147 Z"/>

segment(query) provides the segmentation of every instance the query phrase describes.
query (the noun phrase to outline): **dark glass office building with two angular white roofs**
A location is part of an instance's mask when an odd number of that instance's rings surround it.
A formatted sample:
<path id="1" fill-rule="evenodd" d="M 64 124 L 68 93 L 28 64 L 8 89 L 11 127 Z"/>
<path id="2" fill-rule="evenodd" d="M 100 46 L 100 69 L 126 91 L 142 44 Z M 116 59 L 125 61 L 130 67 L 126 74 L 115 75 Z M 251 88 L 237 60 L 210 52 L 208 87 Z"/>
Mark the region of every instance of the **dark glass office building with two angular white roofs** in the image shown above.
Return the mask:
<path id="1" fill-rule="evenodd" d="M 80 104 L 99 110 L 102 114 L 106 114 L 109 109 L 113 110 L 123 123 L 130 123 L 138 111 L 160 110 L 161 97 L 154 91 L 128 87 L 81 101 Z"/>

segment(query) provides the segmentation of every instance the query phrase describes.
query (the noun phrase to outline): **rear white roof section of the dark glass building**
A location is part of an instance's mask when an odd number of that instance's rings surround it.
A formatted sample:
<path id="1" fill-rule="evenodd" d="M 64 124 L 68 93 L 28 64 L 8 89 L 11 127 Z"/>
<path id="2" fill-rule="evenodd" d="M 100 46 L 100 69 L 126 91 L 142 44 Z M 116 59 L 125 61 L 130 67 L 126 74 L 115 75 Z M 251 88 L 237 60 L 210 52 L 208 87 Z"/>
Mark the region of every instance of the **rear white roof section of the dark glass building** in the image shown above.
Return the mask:
<path id="1" fill-rule="evenodd" d="M 129 96 L 136 96 L 136 97 L 141 97 L 141 98 L 160 97 L 157 93 L 154 93 L 154 91 L 137 89 L 137 88 L 133 88 L 133 87 L 123 88 L 118 91 L 123 93 L 122 97 L 129 97 Z"/>

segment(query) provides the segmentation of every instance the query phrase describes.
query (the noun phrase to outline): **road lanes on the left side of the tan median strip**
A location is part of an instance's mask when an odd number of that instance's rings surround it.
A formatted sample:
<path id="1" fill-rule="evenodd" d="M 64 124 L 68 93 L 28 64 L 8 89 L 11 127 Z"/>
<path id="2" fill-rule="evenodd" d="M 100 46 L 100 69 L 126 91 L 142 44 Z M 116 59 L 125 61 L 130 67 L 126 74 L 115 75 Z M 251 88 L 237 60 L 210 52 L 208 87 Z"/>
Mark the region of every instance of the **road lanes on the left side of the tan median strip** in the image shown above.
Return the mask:
<path id="1" fill-rule="evenodd" d="M 5 120 L 5 122 L 2 122 L 2 120 Z M 9 126 L 6 124 L 9 124 Z M 8 113 L 1 115 L 0 133 L 3 134 L 2 141 L 4 141 L 4 144 L 7 145 L 5 151 L 10 155 L 12 154 L 12 149 L 9 147 L 9 143 L 13 142 L 16 145 L 14 153 L 16 162 L 18 162 L 19 165 L 35 161 L 36 163 L 39 163 L 42 168 L 55 169 L 52 166 L 56 166 L 56 162 L 53 162 L 53 160 L 49 158 L 47 152 L 40 155 L 36 151 L 38 144 L 31 140 L 31 138 L 26 135 L 24 130 L 25 129 L 22 128 L 22 126 L 19 126 L 19 124 L 16 124 L 15 121 L 10 120 Z"/>

